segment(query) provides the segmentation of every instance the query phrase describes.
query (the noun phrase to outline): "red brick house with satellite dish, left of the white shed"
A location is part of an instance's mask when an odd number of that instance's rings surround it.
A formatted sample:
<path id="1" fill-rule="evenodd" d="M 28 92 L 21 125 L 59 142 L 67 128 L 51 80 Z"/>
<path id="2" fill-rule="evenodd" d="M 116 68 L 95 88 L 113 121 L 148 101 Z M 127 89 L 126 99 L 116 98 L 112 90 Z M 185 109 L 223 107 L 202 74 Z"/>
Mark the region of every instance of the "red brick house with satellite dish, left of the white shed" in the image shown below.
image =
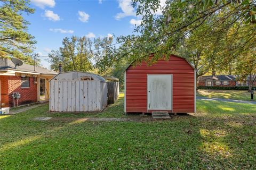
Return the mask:
<path id="1" fill-rule="evenodd" d="M 14 92 L 21 95 L 18 105 L 49 100 L 49 80 L 58 72 L 23 63 L 15 65 L 7 58 L 0 58 L 1 107 L 12 107 Z M 15 101 L 15 105 L 16 105 Z"/>

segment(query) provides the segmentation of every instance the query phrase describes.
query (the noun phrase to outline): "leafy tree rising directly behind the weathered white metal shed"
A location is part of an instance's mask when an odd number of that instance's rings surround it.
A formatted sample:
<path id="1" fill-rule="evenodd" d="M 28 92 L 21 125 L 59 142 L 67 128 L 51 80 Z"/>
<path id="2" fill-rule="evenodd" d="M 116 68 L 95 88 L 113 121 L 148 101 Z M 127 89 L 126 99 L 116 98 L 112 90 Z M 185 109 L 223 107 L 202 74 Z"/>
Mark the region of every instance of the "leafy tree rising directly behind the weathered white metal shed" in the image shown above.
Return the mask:
<path id="1" fill-rule="evenodd" d="M 49 54 L 51 69 L 58 71 L 59 63 L 62 63 L 63 71 L 91 71 L 93 69 L 91 50 L 92 41 L 86 37 L 64 38 L 63 47 Z"/>

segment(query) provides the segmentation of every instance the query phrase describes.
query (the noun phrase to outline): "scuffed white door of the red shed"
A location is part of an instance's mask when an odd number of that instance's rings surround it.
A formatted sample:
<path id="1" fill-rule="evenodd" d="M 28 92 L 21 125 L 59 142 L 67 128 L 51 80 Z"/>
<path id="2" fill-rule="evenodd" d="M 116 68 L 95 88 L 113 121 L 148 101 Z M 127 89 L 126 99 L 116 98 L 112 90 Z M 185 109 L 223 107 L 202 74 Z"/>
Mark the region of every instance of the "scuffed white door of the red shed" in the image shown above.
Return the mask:
<path id="1" fill-rule="evenodd" d="M 148 75 L 148 110 L 172 110 L 172 74 Z"/>

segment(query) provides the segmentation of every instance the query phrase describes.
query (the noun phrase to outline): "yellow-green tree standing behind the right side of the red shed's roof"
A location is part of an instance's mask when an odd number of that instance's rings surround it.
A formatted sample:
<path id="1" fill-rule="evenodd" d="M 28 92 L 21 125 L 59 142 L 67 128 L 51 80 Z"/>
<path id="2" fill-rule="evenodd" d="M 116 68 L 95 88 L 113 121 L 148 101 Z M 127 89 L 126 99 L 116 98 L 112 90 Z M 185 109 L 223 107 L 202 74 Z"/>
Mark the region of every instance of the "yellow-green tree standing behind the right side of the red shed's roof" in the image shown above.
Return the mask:
<path id="1" fill-rule="evenodd" d="M 201 43 L 202 32 L 209 29 L 209 27 L 209 23 L 204 23 L 201 28 L 191 32 L 189 36 L 182 40 L 177 52 L 174 52 L 185 57 L 195 67 L 197 79 L 210 71 L 214 75 L 218 69 L 216 58 L 222 51 L 222 41 L 215 39 Z"/>

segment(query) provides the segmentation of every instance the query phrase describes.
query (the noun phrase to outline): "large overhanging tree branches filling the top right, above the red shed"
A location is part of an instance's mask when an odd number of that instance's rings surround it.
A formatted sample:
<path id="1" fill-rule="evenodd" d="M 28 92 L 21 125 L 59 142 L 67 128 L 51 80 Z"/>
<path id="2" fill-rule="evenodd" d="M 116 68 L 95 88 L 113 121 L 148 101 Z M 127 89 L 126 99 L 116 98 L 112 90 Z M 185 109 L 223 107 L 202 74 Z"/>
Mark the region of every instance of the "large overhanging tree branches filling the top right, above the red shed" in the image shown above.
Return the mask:
<path id="1" fill-rule="evenodd" d="M 151 58 L 154 61 L 169 56 L 198 30 L 196 41 L 199 45 L 205 46 L 209 42 L 222 44 L 218 48 L 211 46 L 211 55 L 217 55 L 213 58 L 214 65 L 218 67 L 227 61 L 232 62 L 242 51 L 256 45 L 254 1 L 174 0 L 166 1 L 165 7 L 161 8 L 159 1 L 134 0 L 133 5 L 137 7 L 137 15 L 142 16 L 141 25 L 134 30 L 139 36 L 117 39 L 120 43 L 130 43 L 129 50 L 123 54 L 129 54 L 131 61 L 147 61 L 151 53 L 154 53 Z M 162 15 L 155 13 L 159 8 Z M 233 42 L 234 39 L 237 41 Z M 223 52 L 218 51 L 219 47 Z"/>

